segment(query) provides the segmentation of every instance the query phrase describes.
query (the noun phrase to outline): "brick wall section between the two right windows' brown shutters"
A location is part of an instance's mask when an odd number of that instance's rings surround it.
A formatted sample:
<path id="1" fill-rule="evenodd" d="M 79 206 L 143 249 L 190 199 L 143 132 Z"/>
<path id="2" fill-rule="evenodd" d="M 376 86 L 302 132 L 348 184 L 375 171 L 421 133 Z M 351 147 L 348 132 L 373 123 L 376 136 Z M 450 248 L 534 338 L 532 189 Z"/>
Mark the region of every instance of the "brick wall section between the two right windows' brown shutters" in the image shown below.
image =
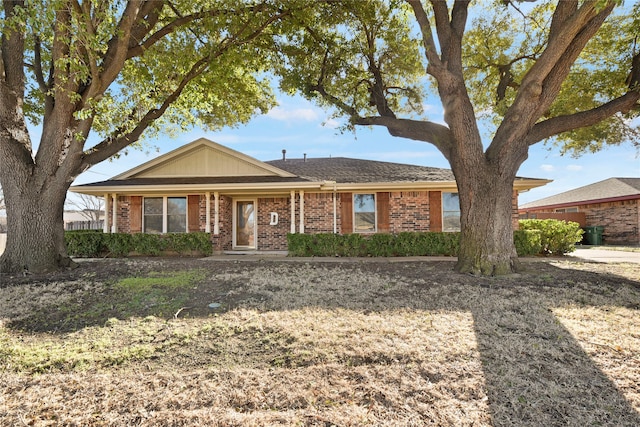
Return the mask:
<path id="1" fill-rule="evenodd" d="M 428 191 L 399 191 L 390 194 L 389 232 L 403 231 L 429 231 Z"/>

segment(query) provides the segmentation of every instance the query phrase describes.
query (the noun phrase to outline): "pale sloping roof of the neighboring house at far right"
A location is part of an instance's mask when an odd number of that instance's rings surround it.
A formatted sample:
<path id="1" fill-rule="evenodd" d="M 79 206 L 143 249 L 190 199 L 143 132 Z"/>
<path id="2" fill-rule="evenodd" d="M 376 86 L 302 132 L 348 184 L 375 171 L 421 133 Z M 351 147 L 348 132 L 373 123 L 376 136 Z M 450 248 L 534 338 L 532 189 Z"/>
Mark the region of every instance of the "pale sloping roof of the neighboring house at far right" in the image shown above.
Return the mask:
<path id="1" fill-rule="evenodd" d="M 520 209 L 640 199 L 640 178 L 609 178 L 520 206 Z"/>

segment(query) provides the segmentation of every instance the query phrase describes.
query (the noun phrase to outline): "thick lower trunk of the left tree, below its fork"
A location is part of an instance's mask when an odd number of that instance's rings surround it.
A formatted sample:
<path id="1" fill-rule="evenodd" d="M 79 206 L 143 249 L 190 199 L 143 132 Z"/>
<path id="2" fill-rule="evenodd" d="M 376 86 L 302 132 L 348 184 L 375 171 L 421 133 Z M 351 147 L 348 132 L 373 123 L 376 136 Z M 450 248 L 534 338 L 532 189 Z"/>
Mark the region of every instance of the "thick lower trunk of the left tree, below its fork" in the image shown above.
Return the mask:
<path id="1" fill-rule="evenodd" d="M 50 181 L 39 191 L 26 185 L 5 189 L 7 246 L 0 257 L 0 271 L 43 273 L 75 267 L 64 243 L 67 188 Z"/>

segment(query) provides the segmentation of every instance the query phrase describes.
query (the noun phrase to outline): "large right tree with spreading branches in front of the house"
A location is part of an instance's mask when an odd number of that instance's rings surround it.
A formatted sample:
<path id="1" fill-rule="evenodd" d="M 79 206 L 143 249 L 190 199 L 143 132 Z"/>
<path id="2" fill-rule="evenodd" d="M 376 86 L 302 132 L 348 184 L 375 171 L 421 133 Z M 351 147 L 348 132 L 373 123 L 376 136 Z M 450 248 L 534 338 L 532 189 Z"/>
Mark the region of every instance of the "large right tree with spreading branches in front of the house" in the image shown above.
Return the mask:
<path id="1" fill-rule="evenodd" d="M 505 274 L 517 269 L 512 192 L 529 147 L 638 142 L 640 14 L 614 14 L 618 3 L 322 4 L 281 40 L 282 86 L 335 107 L 349 126 L 436 146 L 460 196 L 456 269 Z M 444 124 L 422 111 L 431 89 Z"/>

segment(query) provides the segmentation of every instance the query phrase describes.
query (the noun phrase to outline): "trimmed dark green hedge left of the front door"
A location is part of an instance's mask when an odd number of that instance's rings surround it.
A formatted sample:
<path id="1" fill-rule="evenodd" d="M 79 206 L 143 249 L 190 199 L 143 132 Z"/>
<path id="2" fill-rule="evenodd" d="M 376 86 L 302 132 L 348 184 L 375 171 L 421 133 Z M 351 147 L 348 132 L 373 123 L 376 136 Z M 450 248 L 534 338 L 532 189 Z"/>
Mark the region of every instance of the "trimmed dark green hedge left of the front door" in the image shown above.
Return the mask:
<path id="1" fill-rule="evenodd" d="M 167 252 L 180 255 L 211 255 L 209 233 L 127 234 L 97 230 L 65 232 L 67 253 L 75 257 L 123 257 L 129 254 L 157 256 Z"/>

